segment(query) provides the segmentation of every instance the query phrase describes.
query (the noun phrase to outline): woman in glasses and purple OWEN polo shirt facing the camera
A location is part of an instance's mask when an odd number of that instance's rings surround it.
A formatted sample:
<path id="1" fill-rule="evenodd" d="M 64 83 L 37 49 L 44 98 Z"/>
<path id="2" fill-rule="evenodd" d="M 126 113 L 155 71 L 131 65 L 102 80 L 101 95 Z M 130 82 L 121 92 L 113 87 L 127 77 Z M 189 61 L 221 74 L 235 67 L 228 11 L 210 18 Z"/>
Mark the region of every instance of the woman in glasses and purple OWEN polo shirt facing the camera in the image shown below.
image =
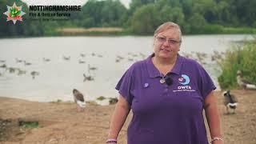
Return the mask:
<path id="1" fill-rule="evenodd" d="M 128 144 L 209 143 L 202 110 L 210 127 L 210 142 L 223 143 L 216 87 L 198 62 L 178 54 L 181 43 L 182 32 L 174 22 L 155 30 L 154 54 L 130 66 L 116 86 L 120 96 L 106 143 L 117 143 L 130 109 Z"/>

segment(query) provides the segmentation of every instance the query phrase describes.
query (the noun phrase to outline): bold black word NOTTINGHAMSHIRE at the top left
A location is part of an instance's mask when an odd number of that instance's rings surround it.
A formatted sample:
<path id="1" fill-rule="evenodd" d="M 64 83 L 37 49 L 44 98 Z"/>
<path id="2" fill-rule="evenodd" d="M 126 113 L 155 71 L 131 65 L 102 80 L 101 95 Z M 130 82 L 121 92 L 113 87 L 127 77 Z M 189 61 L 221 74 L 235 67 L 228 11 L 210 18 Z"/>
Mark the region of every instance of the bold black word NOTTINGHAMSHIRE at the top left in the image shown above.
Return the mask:
<path id="1" fill-rule="evenodd" d="M 81 11 L 81 6 L 30 6 L 30 11 Z"/>

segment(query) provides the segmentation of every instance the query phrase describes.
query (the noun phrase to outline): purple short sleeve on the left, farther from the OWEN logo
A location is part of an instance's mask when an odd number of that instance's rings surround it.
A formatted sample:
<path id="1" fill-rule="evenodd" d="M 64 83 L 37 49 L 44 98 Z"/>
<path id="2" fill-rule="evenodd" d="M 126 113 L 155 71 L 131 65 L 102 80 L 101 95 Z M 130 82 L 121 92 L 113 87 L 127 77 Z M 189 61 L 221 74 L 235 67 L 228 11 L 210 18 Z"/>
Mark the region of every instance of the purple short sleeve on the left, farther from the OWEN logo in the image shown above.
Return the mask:
<path id="1" fill-rule="evenodd" d="M 119 80 L 117 86 L 115 87 L 118 90 L 119 94 L 130 104 L 132 103 L 133 96 L 130 93 L 133 85 L 133 66 L 130 66 L 126 73 L 122 75 L 122 78 Z"/>

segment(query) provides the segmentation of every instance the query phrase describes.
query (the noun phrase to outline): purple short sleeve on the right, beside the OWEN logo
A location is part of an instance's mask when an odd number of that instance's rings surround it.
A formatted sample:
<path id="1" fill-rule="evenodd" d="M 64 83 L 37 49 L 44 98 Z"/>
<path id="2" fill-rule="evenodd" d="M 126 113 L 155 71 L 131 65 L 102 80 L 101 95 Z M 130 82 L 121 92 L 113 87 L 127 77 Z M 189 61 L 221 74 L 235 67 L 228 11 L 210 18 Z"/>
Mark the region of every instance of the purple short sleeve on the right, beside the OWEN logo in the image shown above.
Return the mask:
<path id="1" fill-rule="evenodd" d="M 210 75 L 206 72 L 206 70 L 198 64 L 198 72 L 199 72 L 199 78 L 198 78 L 198 89 L 202 95 L 202 97 L 205 99 L 208 94 L 212 90 L 216 89 L 216 86 L 214 85 L 213 80 L 210 78 Z"/>

